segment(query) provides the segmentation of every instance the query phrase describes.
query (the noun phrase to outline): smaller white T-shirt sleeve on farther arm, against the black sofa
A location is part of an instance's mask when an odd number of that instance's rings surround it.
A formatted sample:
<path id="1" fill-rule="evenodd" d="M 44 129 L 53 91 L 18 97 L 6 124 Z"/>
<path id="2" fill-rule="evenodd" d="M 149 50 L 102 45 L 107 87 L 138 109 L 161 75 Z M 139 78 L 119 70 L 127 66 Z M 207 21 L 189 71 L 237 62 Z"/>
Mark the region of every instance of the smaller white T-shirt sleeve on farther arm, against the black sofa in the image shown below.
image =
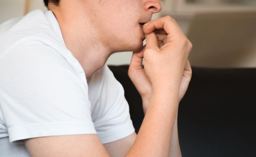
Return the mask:
<path id="1" fill-rule="evenodd" d="M 123 139 L 134 133 L 135 130 L 130 119 L 129 105 L 124 97 L 122 85 L 116 80 L 107 65 L 97 73 L 92 79 L 98 80 L 96 82 L 101 82 L 102 85 L 100 85 L 100 106 L 97 109 L 99 113 L 95 113 L 97 117 L 94 126 L 104 144 Z M 101 81 L 97 77 L 100 77 Z"/>

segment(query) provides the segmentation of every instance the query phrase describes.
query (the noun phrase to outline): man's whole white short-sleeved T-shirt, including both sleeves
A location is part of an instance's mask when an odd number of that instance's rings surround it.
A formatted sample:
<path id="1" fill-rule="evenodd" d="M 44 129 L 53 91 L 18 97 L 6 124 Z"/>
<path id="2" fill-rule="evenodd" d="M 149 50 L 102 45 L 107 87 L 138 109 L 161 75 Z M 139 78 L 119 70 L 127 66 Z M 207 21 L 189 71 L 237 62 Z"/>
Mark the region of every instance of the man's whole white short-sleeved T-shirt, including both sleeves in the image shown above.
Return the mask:
<path id="1" fill-rule="evenodd" d="M 107 65 L 86 80 L 51 11 L 0 25 L 0 156 L 29 156 L 19 140 L 33 137 L 133 132 L 122 85 Z"/>

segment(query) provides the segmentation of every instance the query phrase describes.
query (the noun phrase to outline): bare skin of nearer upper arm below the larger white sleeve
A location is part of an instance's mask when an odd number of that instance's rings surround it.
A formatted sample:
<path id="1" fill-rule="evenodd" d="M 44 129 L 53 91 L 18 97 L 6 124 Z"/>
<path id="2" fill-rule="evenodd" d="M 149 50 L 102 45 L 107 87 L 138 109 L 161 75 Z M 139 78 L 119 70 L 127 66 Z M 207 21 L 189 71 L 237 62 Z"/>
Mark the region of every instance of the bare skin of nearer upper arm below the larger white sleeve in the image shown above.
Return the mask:
<path id="1" fill-rule="evenodd" d="M 31 157 L 108 157 L 96 134 L 48 136 L 24 140 Z"/>

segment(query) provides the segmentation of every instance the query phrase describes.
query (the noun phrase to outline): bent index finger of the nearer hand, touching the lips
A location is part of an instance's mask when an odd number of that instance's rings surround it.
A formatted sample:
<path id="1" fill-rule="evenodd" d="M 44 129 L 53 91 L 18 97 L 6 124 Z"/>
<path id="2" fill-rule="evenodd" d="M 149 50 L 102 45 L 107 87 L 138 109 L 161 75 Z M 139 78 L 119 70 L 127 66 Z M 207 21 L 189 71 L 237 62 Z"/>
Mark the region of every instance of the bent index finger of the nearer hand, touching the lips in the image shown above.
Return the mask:
<path id="1" fill-rule="evenodd" d="M 167 34 L 171 35 L 180 35 L 182 33 L 176 21 L 170 16 L 161 17 L 143 25 L 145 34 L 149 34 L 156 29 L 163 29 Z"/>

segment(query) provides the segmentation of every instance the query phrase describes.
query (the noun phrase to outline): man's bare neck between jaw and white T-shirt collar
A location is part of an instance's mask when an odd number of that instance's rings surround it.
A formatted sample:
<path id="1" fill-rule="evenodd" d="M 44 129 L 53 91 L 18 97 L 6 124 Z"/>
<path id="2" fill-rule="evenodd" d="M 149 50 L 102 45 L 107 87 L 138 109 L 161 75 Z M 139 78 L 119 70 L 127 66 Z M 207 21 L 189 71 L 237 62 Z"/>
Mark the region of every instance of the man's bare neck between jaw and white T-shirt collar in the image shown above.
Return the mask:
<path id="1" fill-rule="evenodd" d="M 100 40 L 92 19 L 81 25 L 80 15 L 70 13 L 59 8 L 51 8 L 58 20 L 61 33 L 67 48 L 79 61 L 85 71 L 87 79 L 98 69 L 103 67 L 108 57 L 113 53 Z M 75 18 L 74 18 L 75 17 Z M 82 17 L 84 20 L 85 17 Z"/>

